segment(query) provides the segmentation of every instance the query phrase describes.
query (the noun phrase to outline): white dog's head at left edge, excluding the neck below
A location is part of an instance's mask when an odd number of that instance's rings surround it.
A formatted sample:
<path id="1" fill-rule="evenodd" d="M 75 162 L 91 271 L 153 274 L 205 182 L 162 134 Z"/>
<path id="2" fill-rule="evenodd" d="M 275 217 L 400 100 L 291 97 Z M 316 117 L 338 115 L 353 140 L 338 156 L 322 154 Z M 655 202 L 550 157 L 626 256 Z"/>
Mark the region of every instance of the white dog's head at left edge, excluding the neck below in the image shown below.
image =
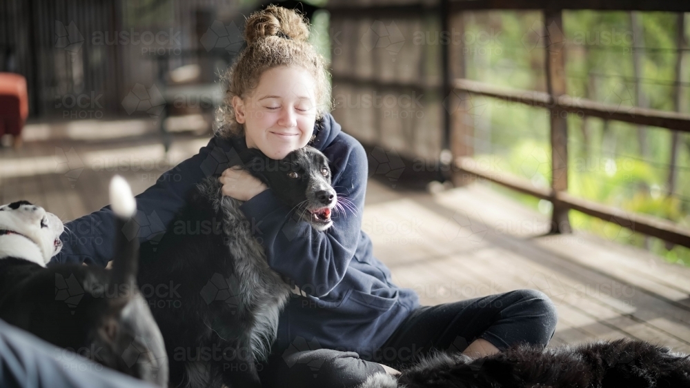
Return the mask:
<path id="1" fill-rule="evenodd" d="M 0 231 L 19 234 L 32 241 L 41 251 L 43 265 L 62 249 L 60 235 L 64 230 L 60 218 L 28 201 L 0 206 Z"/>

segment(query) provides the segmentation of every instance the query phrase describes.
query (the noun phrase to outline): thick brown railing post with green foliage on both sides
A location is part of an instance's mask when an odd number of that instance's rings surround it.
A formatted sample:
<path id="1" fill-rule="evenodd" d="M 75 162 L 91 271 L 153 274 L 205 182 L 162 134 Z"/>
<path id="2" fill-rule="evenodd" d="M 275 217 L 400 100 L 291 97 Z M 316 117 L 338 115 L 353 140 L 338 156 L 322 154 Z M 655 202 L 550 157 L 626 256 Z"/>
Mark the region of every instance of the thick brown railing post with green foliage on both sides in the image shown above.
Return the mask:
<path id="1" fill-rule="evenodd" d="M 561 10 L 544 10 L 546 28 L 546 89 L 551 99 L 551 188 L 555 193 L 568 190 L 568 121 L 566 113 L 555 108 L 555 99 L 566 94 L 565 37 Z M 553 203 L 551 233 L 572 232 L 569 208 Z"/>

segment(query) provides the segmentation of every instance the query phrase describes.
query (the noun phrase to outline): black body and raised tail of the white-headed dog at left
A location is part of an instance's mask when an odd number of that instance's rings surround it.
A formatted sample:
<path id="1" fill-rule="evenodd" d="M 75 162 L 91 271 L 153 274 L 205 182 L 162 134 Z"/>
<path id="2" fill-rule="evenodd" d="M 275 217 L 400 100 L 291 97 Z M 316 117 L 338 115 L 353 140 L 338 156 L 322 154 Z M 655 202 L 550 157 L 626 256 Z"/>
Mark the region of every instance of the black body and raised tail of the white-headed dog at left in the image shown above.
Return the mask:
<path id="1" fill-rule="evenodd" d="M 165 345 L 135 283 L 139 243 L 120 232 L 128 221 L 117 219 L 112 270 L 70 264 L 46 268 L 23 258 L 0 259 L 0 318 L 101 365 L 164 387 Z M 70 298 L 58 298 L 59 291 Z M 67 353 L 63 356 L 70 359 Z"/>

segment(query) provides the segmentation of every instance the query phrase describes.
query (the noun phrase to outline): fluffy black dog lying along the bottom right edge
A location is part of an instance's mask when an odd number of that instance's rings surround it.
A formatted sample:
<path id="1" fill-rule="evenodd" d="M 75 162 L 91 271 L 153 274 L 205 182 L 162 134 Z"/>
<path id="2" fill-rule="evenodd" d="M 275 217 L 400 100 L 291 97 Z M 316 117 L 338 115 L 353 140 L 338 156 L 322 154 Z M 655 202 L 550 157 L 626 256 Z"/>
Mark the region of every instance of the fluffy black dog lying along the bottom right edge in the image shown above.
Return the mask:
<path id="1" fill-rule="evenodd" d="M 359 388 L 685 388 L 690 356 L 622 338 L 573 347 L 516 345 L 482 358 L 437 354 L 397 377 L 376 374 Z"/>

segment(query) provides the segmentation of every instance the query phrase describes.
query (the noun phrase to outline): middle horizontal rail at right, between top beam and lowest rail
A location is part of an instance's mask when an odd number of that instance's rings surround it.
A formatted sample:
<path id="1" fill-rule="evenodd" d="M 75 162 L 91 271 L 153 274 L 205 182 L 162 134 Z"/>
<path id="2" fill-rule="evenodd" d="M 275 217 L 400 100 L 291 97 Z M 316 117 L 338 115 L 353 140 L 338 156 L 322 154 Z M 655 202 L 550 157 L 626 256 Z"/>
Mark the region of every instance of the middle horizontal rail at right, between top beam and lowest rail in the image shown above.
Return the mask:
<path id="1" fill-rule="evenodd" d="M 690 132 L 690 114 L 598 103 L 568 95 L 559 96 L 551 101 L 549 94 L 544 92 L 506 90 L 489 83 L 471 81 L 469 79 L 456 79 L 454 84 L 457 90 L 494 97 L 509 101 L 510 103 L 522 103 L 540 108 L 552 108 L 551 104 L 553 104 L 553 108 L 583 114 L 584 116 L 595 116 L 604 120 L 625 121 L 627 123 Z"/>

